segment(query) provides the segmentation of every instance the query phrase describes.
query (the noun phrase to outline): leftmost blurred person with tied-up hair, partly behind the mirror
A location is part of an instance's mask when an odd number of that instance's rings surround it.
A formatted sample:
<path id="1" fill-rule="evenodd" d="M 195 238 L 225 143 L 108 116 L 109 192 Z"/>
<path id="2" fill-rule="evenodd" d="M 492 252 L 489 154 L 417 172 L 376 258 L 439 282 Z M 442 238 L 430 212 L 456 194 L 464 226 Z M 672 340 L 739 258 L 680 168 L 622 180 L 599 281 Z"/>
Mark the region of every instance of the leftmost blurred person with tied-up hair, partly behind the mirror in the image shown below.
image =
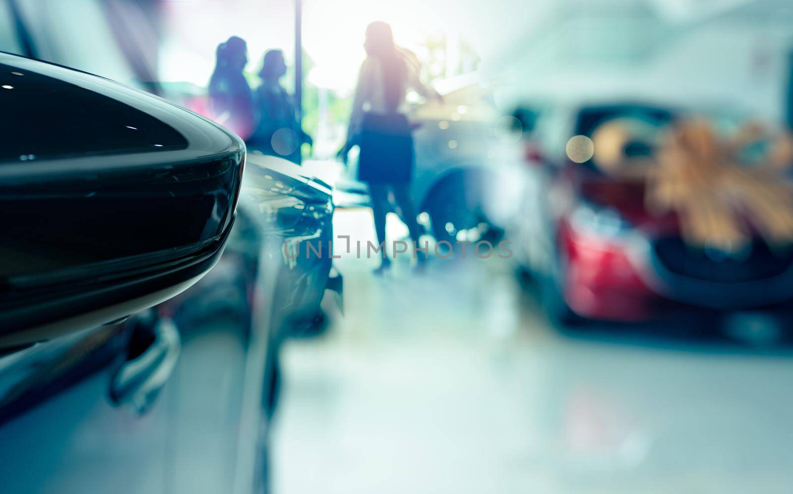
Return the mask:
<path id="1" fill-rule="evenodd" d="M 251 87 L 243 75 L 246 64 L 247 44 L 232 36 L 217 46 L 215 70 L 209 79 L 210 116 L 243 139 L 251 137 L 255 123 Z"/>

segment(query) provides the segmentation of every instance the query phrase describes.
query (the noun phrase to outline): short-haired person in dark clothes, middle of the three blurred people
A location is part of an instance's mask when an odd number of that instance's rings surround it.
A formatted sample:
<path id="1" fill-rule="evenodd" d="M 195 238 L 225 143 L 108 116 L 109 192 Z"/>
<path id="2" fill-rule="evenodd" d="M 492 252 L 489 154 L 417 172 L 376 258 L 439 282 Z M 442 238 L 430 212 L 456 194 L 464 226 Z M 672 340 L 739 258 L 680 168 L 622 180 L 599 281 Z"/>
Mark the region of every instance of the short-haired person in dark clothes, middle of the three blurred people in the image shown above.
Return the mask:
<path id="1" fill-rule="evenodd" d="M 303 131 L 297 120 L 292 95 L 281 86 L 280 79 L 286 74 L 284 53 L 270 50 L 265 53 L 259 77 L 262 84 L 255 92 L 256 125 L 250 146 L 265 154 L 282 156 L 300 164 L 300 147 L 312 138 Z"/>

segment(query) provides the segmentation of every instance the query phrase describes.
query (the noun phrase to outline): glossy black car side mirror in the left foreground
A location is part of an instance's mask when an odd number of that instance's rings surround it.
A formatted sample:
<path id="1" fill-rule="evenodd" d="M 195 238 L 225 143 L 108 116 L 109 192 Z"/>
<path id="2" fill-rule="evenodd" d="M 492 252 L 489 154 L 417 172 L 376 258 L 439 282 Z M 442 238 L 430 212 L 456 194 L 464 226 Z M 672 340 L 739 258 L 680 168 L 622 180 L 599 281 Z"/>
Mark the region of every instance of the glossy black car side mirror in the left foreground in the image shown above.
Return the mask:
<path id="1" fill-rule="evenodd" d="M 188 288 L 235 217 L 245 146 L 170 102 L 0 53 L 0 349 Z"/>

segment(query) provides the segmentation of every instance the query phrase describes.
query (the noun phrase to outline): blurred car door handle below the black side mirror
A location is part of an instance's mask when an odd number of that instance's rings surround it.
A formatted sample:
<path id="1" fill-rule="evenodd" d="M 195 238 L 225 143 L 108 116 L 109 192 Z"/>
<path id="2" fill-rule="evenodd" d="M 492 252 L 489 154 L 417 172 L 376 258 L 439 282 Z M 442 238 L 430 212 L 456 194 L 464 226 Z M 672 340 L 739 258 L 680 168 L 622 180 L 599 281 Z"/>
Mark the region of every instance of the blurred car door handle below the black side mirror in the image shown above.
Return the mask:
<path id="1" fill-rule="evenodd" d="M 170 318 L 154 316 L 136 331 L 148 331 L 151 343 L 121 365 L 110 381 L 110 399 L 128 405 L 137 415 L 145 414 L 176 367 L 182 349 L 179 331 Z M 133 338 L 134 338 L 133 334 Z"/>

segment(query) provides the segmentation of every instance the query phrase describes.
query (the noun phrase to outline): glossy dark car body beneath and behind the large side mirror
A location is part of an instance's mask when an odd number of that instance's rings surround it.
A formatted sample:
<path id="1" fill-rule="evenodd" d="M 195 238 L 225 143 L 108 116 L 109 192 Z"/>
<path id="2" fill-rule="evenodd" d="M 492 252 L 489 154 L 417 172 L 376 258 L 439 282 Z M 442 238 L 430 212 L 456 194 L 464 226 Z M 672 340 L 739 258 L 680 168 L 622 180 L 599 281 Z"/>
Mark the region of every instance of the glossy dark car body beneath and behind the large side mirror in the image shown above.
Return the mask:
<path id="1" fill-rule="evenodd" d="M 328 189 L 297 171 L 248 161 L 227 247 L 192 288 L 0 358 L 3 492 L 262 492 L 278 349 L 316 316 L 330 271 L 329 257 L 283 254 L 332 239 Z M 167 379 L 155 365 L 120 389 L 131 364 L 166 360 L 169 325 L 180 348 Z"/>

